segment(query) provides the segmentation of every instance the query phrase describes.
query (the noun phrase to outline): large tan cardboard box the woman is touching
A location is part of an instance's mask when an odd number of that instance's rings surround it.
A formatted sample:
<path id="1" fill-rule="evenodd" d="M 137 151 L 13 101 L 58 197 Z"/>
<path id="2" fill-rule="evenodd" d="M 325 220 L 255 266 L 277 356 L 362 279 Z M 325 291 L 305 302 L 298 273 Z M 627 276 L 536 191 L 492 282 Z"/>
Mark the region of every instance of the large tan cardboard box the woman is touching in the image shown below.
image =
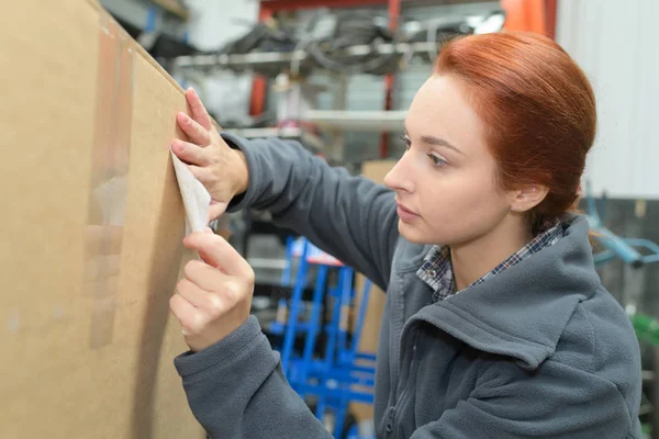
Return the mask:
<path id="1" fill-rule="evenodd" d="M 204 437 L 168 303 L 182 90 L 91 1 L 9 2 L 0 45 L 0 437 Z"/>

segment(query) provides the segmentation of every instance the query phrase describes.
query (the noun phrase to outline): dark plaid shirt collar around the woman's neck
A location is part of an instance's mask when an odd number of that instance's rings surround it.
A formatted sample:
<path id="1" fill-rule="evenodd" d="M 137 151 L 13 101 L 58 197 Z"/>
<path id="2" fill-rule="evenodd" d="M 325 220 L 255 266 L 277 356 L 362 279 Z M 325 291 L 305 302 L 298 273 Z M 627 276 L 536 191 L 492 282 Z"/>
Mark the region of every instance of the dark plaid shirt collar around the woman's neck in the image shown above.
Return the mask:
<path id="1" fill-rule="evenodd" d="M 537 254 L 543 248 L 552 246 L 563 236 L 565 227 L 558 223 L 546 232 L 536 236 L 530 243 L 522 247 L 517 252 L 512 255 L 505 261 L 496 266 L 492 271 L 467 286 L 465 290 L 483 283 L 493 275 L 520 263 L 530 255 Z M 450 249 L 448 246 L 434 246 L 423 259 L 421 268 L 416 271 L 416 275 L 427 283 L 433 290 L 433 302 L 439 302 L 450 295 L 458 294 L 461 291 L 455 291 L 455 281 L 453 275 L 453 267 L 450 263 Z"/>

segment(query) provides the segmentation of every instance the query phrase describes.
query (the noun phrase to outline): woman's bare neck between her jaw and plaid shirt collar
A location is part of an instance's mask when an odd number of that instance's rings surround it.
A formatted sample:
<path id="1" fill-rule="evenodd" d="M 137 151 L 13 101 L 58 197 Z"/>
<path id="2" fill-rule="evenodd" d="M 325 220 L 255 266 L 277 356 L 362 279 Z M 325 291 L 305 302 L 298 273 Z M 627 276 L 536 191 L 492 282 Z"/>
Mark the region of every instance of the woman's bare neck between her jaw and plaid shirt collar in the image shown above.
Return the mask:
<path id="1" fill-rule="evenodd" d="M 468 243 L 451 245 L 456 291 L 471 285 L 533 239 L 524 218 L 509 215 L 495 228 Z"/>

